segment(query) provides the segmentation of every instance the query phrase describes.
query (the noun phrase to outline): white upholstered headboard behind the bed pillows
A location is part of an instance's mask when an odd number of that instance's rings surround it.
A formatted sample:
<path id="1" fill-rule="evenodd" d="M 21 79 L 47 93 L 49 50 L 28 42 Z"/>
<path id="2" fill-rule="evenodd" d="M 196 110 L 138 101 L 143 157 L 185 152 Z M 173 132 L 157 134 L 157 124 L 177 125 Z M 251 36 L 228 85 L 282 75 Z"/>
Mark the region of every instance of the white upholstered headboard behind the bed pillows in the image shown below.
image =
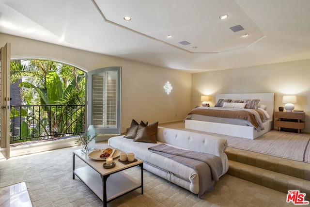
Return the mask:
<path id="1" fill-rule="evenodd" d="M 217 94 L 217 101 L 220 98 L 243 100 L 243 99 L 260 99 L 259 104 L 267 106 L 266 111 L 270 115 L 270 119 L 273 120 L 274 113 L 274 94 L 273 93 L 247 93 L 247 94 Z"/>

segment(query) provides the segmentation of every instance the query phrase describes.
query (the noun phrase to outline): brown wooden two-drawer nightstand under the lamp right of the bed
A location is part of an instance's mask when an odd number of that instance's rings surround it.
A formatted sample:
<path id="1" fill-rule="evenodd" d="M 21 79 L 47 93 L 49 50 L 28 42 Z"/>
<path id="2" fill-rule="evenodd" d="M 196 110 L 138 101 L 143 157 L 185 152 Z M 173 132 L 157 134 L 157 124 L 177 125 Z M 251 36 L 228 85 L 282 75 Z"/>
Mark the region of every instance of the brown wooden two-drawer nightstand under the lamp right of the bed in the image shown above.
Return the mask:
<path id="1" fill-rule="evenodd" d="M 278 118 L 275 121 L 275 127 L 279 127 L 279 131 L 281 131 L 281 128 L 294 128 L 300 133 L 300 130 L 305 128 L 305 122 L 302 121 L 305 120 L 305 112 L 276 111 L 275 117 Z"/>

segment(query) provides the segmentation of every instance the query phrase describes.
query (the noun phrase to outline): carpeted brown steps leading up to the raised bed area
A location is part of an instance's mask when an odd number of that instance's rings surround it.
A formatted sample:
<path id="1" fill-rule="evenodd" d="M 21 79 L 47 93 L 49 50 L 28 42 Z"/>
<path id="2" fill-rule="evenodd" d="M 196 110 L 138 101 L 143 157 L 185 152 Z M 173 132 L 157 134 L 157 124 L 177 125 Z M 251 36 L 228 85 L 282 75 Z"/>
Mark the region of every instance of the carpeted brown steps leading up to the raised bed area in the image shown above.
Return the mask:
<path id="1" fill-rule="evenodd" d="M 288 193 L 299 190 L 310 200 L 310 163 L 228 147 L 227 174 Z"/>

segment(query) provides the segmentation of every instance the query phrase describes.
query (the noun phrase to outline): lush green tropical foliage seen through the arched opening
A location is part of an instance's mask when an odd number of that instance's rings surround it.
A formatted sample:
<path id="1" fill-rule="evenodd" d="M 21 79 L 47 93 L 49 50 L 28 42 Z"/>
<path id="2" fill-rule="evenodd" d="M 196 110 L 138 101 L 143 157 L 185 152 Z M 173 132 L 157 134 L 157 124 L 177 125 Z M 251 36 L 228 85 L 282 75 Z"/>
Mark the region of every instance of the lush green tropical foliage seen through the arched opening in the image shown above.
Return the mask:
<path id="1" fill-rule="evenodd" d="M 46 134 L 49 132 L 52 137 L 72 131 L 83 131 L 85 123 L 83 71 L 47 60 L 11 61 L 11 83 L 18 80 L 22 80 L 19 84 L 22 88 L 22 105 L 40 107 L 40 110 L 32 112 L 34 114 L 29 114 L 25 109 L 11 110 L 11 118 L 21 116 L 25 119 L 18 133 L 19 139 L 33 137 L 33 134 L 39 137 L 42 130 Z M 35 127 L 30 127 L 30 123 L 34 123 Z"/>

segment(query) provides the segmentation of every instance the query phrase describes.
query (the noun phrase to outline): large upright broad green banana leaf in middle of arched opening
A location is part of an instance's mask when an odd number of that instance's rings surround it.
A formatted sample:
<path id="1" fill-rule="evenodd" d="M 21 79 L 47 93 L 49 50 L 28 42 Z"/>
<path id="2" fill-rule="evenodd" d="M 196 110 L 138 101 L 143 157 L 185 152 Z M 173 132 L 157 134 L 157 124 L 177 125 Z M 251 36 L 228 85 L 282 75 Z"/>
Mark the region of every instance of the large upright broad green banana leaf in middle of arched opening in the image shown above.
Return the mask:
<path id="1" fill-rule="evenodd" d="M 50 104 L 58 103 L 62 98 L 62 81 L 58 74 L 50 70 L 47 72 L 47 98 Z"/>

